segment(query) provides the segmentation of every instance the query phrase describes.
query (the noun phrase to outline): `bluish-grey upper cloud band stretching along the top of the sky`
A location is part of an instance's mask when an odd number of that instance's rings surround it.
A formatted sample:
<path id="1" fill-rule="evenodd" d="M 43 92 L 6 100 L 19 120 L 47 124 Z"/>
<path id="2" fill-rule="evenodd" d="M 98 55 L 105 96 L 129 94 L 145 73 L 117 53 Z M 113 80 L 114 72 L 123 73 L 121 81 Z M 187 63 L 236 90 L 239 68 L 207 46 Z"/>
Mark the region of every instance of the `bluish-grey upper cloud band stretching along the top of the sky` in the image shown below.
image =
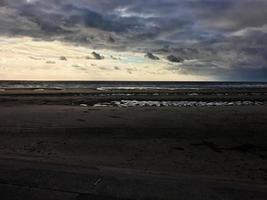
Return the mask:
<path id="1" fill-rule="evenodd" d="M 171 41 L 210 39 L 224 31 L 262 26 L 267 18 L 264 0 L 2 0 L 0 5 L 46 33 L 79 26 Z"/>

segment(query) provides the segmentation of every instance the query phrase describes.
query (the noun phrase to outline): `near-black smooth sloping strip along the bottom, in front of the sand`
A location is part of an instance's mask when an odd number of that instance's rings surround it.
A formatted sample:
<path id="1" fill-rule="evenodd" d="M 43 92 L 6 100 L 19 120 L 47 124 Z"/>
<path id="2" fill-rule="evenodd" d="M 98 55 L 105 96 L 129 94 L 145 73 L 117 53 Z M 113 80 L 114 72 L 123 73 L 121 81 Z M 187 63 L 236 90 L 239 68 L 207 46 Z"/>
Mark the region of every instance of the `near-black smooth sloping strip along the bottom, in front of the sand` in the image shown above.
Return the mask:
<path id="1" fill-rule="evenodd" d="M 5 200 L 264 200 L 267 186 L 205 177 L 167 177 L 127 169 L 0 160 L 0 197 Z"/>

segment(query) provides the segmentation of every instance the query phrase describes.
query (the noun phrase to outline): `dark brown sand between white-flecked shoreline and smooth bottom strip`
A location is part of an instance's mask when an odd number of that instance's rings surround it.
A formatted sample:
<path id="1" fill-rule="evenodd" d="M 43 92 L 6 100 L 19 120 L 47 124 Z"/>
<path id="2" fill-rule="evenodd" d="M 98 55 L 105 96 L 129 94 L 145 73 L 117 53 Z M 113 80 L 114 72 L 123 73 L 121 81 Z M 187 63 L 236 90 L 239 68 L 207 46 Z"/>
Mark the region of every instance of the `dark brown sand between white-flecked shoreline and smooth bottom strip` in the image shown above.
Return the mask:
<path id="1" fill-rule="evenodd" d="M 267 106 L 2 102 L 0 158 L 267 183 Z"/>

